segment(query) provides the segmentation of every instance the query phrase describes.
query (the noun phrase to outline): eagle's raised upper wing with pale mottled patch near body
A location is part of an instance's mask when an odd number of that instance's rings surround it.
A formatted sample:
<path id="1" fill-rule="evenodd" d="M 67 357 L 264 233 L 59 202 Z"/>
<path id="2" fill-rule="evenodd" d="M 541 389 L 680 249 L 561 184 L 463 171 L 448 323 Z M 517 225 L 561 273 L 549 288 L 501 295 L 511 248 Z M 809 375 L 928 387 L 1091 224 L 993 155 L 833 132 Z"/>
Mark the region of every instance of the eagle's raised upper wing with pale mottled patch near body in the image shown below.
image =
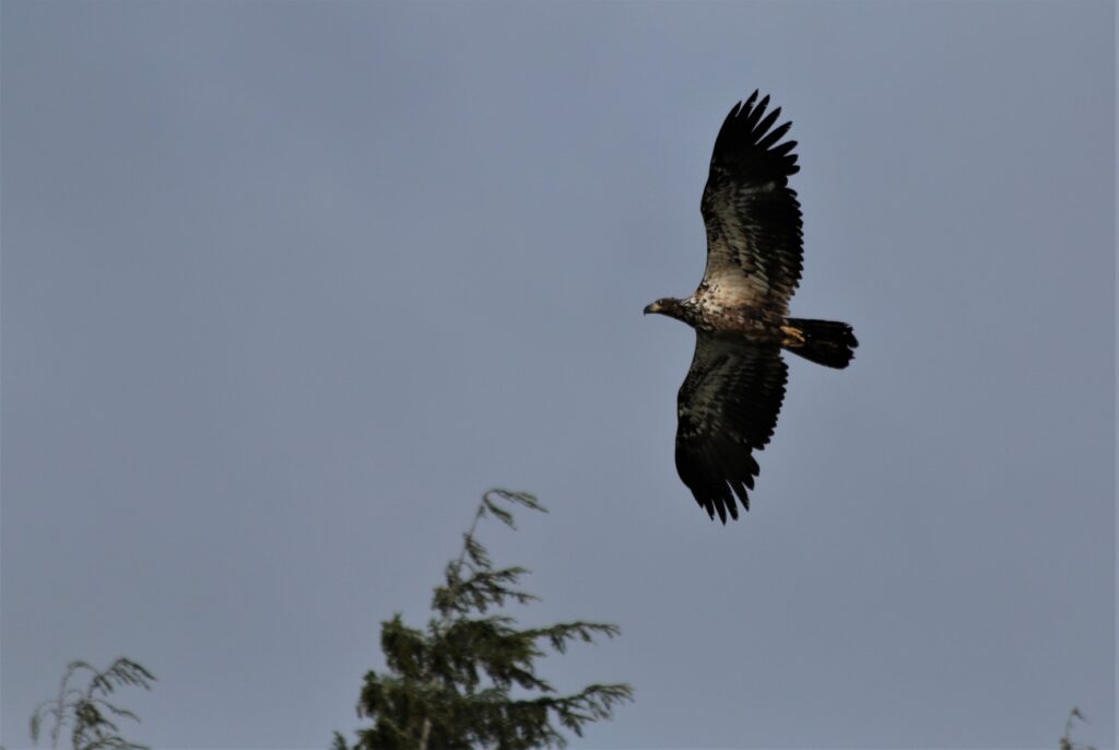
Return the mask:
<path id="1" fill-rule="evenodd" d="M 800 281 L 800 204 L 788 186 L 800 171 L 796 141 L 778 143 L 791 122 L 773 130 L 781 107 L 765 116 L 769 96 L 734 106 L 715 139 L 703 191 L 707 227 L 704 283 L 732 302 L 788 315 Z M 756 102 L 756 103 L 755 103 Z"/>

